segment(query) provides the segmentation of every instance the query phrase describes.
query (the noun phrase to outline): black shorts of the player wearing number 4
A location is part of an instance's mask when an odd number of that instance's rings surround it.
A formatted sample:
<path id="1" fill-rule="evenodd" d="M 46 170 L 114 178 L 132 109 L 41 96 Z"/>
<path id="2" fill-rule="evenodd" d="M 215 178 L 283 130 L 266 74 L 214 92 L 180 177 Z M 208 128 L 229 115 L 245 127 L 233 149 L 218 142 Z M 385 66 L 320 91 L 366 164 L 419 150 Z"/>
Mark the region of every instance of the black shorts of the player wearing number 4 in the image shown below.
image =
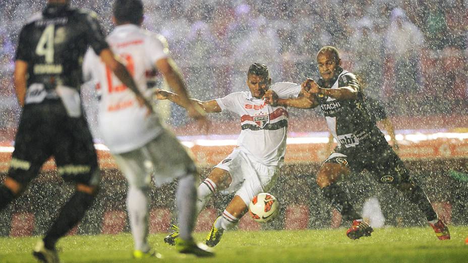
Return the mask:
<path id="1" fill-rule="evenodd" d="M 66 181 L 99 183 L 96 150 L 84 116 L 71 118 L 60 100 L 23 108 L 9 176 L 27 184 L 51 156 Z"/>

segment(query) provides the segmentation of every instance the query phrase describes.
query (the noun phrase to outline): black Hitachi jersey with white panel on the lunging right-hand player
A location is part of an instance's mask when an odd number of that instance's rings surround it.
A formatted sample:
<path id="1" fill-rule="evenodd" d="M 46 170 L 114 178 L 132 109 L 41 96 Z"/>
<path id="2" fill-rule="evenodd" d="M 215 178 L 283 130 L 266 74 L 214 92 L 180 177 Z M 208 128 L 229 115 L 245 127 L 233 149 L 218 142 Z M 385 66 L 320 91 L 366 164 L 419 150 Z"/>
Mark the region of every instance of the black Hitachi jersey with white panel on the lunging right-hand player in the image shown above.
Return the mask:
<path id="1" fill-rule="evenodd" d="M 364 95 L 356 76 L 341 70 L 331 86 L 326 86 L 323 79 L 317 84 L 324 88 L 337 89 L 351 86 L 358 91 L 356 99 L 336 100 L 330 97 L 317 96 L 323 114 L 327 120 L 330 133 L 338 142 L 339 147 L 356 147 L 358 145 L 375 145 L 386 143 L 384 135 L 377 127 L 370 105 L 366 105 Z M 382 141 L 383 140 L 383 141 Z"/>

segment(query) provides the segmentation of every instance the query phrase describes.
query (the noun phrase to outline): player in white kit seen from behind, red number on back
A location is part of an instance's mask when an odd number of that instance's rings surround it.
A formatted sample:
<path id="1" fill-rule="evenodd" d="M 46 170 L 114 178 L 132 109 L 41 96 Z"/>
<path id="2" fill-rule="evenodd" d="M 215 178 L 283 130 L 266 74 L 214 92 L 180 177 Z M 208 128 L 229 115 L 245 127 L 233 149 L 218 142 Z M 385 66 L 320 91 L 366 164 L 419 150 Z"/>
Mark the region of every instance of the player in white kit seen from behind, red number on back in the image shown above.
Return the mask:
<path id="1" fill-rule="evenodd" d="M 189 115 L 201 126 L 208 124 L 205 112 L 189 100 L 177 65 L 168 56 L 165 40 L 141 29 L 143 4 L 140 0 L 116 0 L 113 6 L 115 29 L 107 37 L 114 53 L 126 61 L 135 78 L 138 91 L 151 97 L 147 86 L 156 70 L 162 73 L 169 86 L 181 94 Z M 148 234 L 148 193 L 151 173 L 156 186 L 178 178 L 176 200 L 180 222 L 178 250 L 197 256 L 212 256 L 206 245 L 196 244 L 192 238 L 195 225 L 197 168 L 181 143 L 160 123 L 158 115 L 140 106 L 135 94 L 113 76 L 90 50 L 84 61 L 85 77 L 93 77 L 101 87 L 99 129 L 129 182 L 127 207 L 133 238 L 135 258 L 158 256 L 150 248 Z"/>

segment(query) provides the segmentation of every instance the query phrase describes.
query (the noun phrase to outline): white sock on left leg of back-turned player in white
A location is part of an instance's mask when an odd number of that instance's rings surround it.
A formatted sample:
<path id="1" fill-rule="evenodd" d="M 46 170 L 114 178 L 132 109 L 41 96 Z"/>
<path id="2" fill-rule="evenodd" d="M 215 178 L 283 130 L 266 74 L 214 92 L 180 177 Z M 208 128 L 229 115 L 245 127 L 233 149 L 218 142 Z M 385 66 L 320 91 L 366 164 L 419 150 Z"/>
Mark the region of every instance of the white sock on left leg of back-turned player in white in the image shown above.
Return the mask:
<path id="1" fill-rule="evenodd" d="M 135 250 L 148 251 L 148 190 L 130 186 L 127 193 L 127 209 Z"/>

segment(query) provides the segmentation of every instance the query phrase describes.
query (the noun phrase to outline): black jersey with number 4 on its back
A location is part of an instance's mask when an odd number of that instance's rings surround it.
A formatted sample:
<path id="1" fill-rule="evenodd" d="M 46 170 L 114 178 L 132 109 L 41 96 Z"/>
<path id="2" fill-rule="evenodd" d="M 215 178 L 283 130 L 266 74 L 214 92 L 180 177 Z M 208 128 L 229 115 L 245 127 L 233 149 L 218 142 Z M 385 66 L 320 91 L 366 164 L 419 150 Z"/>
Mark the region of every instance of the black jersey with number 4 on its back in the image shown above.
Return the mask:
<path id="1" fill-rule="evenodd" d="M 16 59 L 28 63 L 28 90 L 31 85 L 48 91 L 61 85 L 78 90 L 88 46 L 97 54 L 108 47 L 95 13 L 47 6 L 23 27 L 18 41 Z"/>

